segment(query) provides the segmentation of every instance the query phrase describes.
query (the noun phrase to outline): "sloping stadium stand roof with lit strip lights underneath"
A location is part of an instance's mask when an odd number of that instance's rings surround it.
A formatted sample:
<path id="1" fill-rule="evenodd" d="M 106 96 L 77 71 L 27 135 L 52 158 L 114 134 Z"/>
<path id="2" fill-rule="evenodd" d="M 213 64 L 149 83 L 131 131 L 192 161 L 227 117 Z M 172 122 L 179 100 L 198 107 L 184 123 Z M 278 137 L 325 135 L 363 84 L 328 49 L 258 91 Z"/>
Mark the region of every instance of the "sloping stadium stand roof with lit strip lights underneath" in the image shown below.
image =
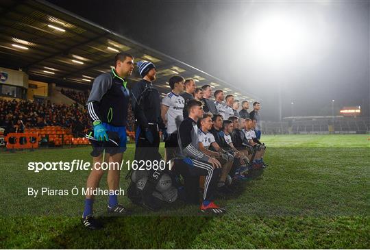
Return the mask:
<path id="1" fill-rule="evenodd" d="M 117 51 L 127 51 L 135 61 L 156 64 L 156 86 L 162 93 L 169 92 L 169 77 L 180 74 L 192 77 L 198 86 L 210 84 L 238 99 L 256 99 L 232 84 L 47 1 L 1 0 L 0 14 L 0 66 L 21 68 L 30 79 L 88 87 L 94 77 L 108 71 Z M 138 81 L 139 76 L 130 79 Z"/>

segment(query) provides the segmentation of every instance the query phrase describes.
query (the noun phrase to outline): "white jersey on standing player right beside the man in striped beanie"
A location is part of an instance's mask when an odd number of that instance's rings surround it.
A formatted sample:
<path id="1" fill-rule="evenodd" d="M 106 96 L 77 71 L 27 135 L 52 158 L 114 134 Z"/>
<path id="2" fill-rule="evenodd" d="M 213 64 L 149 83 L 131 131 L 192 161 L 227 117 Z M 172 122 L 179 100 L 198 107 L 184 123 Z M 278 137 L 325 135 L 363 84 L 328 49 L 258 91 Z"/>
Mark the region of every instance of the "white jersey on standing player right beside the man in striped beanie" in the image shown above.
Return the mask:
<path id="1" fill-rule="evenodd" d="M 169 92 L 162 99 L 162 104 L 169 107 L 167 111 L 167 132 L 172 134 L 177 131 L 176 121 L 180 124 L 184 120 L 182 110 L 184 110 L 185 100 L 184 97 Z"/>

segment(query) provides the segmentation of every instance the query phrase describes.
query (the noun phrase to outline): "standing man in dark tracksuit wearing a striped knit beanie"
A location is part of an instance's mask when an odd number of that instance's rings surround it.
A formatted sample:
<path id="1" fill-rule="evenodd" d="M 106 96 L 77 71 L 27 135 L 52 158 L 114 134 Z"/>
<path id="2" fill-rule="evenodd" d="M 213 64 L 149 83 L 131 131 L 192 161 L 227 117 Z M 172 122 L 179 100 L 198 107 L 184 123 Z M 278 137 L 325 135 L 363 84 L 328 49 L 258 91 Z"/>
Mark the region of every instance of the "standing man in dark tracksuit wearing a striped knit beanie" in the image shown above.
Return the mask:
<path id="1" fill-rule="evenodd" d="M 153 86 L 156 79 L 156 66 L 147 61 L 137 62 L 138 73 L 143 77 L 140 82 L 132 88 L 132 109 L 136 118 L 136 149 L 135 160 L 145 161 L 153 168 L 149 170 L 147 182 L 141 192 L 141 204 L 150 210 L 158 210 L 155 199 L 151 195 L 160 179 L 155 166 L 163 164 L 162 156 L 159 153 L 160 136 L 162 131 L 164 140 L 167 139 L 166 125 L 160 116 L 160 95 Z M 157 163 L 156 163 L 157 162 Z"/>

